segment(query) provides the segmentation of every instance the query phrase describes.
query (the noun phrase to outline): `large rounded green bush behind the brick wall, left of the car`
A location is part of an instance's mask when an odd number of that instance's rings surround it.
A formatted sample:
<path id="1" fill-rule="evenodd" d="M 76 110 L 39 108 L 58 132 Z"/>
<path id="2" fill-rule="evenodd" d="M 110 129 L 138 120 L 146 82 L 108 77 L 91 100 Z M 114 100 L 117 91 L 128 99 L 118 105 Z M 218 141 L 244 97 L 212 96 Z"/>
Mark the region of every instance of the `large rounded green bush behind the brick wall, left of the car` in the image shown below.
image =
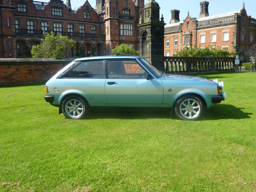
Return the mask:
<path id="1" fill-rule="evenodd" d="M 75 41 L 67 36 L 54 35 L 53 31 L 44 33 L 42 43 L 31 50 L 33 58 L 65 58 L 65 51 L 75 46 Z"/>

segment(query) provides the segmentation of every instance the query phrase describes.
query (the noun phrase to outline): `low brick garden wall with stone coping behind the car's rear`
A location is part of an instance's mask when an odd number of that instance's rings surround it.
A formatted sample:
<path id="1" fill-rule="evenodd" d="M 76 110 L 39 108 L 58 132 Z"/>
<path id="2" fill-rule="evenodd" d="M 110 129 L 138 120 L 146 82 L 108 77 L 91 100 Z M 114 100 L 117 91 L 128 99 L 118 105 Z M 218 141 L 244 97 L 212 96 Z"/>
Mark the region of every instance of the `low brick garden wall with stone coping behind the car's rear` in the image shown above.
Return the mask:
<path id="1" fill-rule="evenodd" d="M 0 85 L 44 83 L 74 59 L 0 59 Z"/>

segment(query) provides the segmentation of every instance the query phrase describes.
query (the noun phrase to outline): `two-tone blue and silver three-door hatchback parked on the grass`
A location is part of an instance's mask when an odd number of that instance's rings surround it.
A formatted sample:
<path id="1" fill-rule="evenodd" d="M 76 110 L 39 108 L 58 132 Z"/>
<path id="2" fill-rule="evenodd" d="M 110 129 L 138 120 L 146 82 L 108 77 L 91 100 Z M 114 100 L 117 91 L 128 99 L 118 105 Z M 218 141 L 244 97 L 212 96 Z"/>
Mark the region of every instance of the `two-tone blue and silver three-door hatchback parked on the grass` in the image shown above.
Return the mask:
<path id="1" fill-rule="evenodd" d="M 139 56 L 86 57 L 46 83 L 45 100 L 71 119 L 105 108 L 175 110 L 180 119 L 196 120 L 226 99 L 223 87 L 217 79 L 167 75 Z"/>

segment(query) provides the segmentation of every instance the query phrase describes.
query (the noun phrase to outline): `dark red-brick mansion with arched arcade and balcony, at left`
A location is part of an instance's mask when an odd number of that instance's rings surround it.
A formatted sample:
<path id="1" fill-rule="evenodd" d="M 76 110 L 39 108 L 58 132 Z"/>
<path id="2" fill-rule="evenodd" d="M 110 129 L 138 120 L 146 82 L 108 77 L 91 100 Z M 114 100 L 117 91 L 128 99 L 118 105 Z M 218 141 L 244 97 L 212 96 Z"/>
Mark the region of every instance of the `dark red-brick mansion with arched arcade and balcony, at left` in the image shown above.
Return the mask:
<path id="1" fill-rule="evenodd" d="M 16 58 L 41 42 L 43 31 L 54 31 L 76 41 L 68 57 L 85 48 L 97 56 L 110 55 L 120 44 L 139 49 L 138 27 L 144 0 L 88 0 L 72 10 L 70 0 L 48 3 L 33 0 L 0 0 L 0 58 Z"/>

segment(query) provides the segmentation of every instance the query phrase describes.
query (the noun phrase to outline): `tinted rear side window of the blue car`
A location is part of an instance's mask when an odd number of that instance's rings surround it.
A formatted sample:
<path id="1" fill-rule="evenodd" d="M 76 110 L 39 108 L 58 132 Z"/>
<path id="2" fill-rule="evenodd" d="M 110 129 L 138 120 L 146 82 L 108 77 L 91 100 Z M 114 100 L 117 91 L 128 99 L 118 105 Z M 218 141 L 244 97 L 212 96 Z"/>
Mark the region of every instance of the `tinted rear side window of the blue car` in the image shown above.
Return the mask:
<path id="1" fill-rule="evenodd" d="M 105 78 L 103 60 L 82 61 L 64 76 L 64 78 Z"/>

